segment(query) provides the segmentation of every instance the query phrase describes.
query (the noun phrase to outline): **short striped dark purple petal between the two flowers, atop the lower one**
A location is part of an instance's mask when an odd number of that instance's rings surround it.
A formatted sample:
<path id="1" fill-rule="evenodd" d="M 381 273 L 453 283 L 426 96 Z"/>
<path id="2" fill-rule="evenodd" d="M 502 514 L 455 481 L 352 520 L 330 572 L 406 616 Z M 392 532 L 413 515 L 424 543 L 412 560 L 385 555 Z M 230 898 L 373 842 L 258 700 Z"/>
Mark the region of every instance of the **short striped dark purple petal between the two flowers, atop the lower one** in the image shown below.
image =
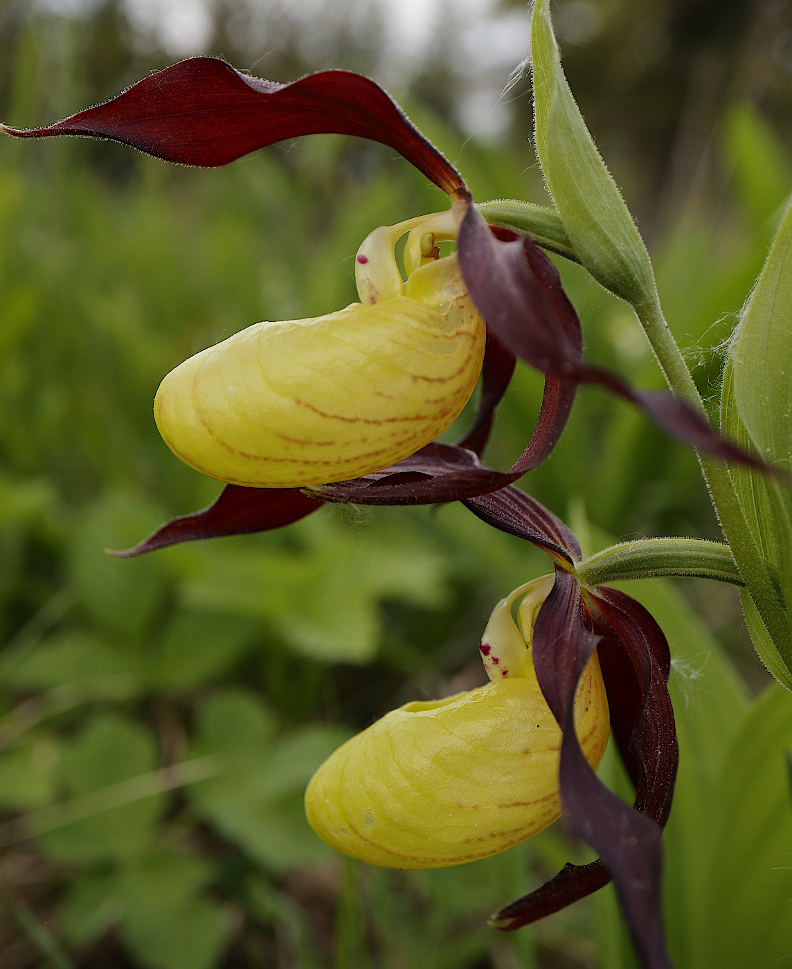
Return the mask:
<path id="1" fill-rule="evenodd" d="M 514 485 L 470 498 L 464 504 L 475 516 L 502 532 L 525 539 L 570 564 L 581 560 L 581 547 L 566 525 Z"/>

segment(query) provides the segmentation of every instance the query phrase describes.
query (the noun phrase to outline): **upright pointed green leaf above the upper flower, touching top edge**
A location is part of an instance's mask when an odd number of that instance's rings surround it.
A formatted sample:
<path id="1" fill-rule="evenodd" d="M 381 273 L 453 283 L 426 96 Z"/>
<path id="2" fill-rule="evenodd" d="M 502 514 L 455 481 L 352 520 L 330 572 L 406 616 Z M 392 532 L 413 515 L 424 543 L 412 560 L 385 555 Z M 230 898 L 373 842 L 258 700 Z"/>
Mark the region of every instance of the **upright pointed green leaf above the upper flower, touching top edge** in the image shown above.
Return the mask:
<path id="1" fill-rule="evenodd" d="M 649 254 L 597 151 L 561 68 L 550 0 L 531 26 L 536 150 L 581 263 L 606 289 L 636 305 L 657 302 Z"/>

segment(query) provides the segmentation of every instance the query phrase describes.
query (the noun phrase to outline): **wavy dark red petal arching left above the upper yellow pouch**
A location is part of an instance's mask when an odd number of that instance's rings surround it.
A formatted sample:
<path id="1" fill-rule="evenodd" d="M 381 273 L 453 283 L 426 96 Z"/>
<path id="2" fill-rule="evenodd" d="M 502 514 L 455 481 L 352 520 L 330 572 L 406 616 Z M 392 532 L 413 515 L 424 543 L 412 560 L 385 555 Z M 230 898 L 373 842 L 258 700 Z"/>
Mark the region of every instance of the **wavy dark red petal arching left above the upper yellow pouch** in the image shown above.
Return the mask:
<path id="1" fill-rule="evenodd" d="M 216 57 L 191 57 L 48 128 L 5 129 L 20 138 L 90 135 L 183 165 L 213 167 L 266 144 L 335 133 L 396 149 L 449 195 L 464 189 L 454 166 L 373 80 L 321 71 L 290 84 L 240 74 Z"/>

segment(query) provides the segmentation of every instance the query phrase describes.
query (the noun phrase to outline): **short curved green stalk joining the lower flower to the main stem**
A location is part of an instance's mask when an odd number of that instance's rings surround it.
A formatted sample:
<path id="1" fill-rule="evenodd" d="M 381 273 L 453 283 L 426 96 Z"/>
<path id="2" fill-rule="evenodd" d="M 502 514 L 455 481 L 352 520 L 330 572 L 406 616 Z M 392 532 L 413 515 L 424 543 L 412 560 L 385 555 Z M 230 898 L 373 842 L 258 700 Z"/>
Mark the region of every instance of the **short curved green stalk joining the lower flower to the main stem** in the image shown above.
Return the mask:
<path id="1" fill-rule="evenodd" d="M 706 539 L 622 542 L 590 555 L 576 566 L 575 575 L 589 586 L 657 576 L 714 578 L 732 585 L 745 584 L 731 549 L 722 542 Z"/>

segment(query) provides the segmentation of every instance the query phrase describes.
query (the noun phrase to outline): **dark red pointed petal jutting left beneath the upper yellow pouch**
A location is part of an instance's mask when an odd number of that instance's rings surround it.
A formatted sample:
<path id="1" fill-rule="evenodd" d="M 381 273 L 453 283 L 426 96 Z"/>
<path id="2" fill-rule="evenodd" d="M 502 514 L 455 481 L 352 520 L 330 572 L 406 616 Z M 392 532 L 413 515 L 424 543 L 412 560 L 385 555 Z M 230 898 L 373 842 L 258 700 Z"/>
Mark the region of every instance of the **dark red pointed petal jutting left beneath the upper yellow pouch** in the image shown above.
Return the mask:
<path id="1" fill-rule="evenodd" d="M 282 528 L 322 506 L 300 488 L 239 487 L 226 485 L 208 508 L 193 515 L 174 518 L 134 548 L 111 551 L 117 558 L 143 555 L 155 548 L 215 539 L 225 535 L 248 535 Z"/>

